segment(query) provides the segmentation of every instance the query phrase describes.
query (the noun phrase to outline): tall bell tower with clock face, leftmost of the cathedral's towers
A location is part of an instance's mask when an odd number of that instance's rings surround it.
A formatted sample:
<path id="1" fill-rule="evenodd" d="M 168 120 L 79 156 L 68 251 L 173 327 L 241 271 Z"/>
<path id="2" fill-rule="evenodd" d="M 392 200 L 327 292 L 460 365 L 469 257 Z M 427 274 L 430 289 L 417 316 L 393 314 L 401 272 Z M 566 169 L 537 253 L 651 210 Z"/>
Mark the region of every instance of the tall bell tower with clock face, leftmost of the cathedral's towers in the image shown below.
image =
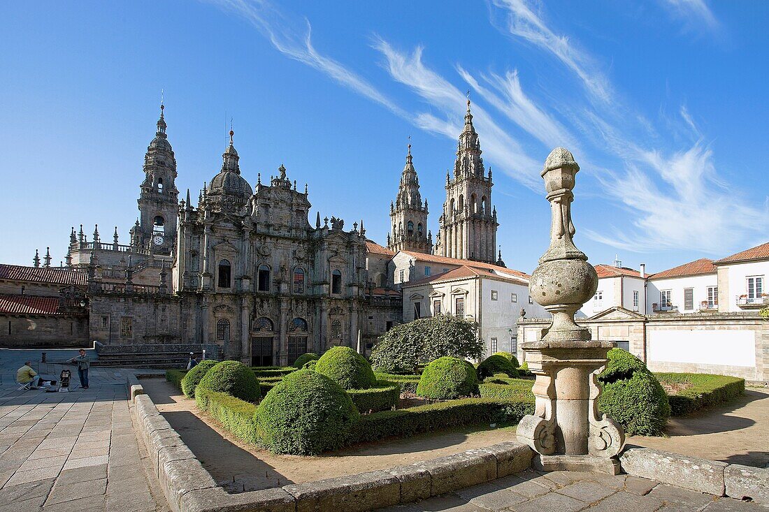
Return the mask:
<path id="1" fill-rule="evenodd" d="M 176 158 L 165 135 L 165 106 L 160 105 L 158 131 L 145 154 L 145 179 L 138 198 L 139 221 L 131 229 L 131 240 L 155 251 L 170 252 L 176 239 L 179 191 L 175 185 Z"/>

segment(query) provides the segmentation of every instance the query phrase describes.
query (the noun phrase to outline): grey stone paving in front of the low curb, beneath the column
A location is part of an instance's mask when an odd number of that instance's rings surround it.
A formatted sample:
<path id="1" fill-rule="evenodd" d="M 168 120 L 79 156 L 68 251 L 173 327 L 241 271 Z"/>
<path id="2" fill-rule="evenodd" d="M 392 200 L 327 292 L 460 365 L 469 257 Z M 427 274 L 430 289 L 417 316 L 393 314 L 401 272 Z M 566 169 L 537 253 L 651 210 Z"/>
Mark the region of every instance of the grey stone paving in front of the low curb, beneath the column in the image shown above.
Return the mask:
<path id="1" fill-rule="evenodd" d="M 657 484 L 628 475 L 608 476 L 578 471 L 539 473 L 527 470 L 431 497 L 416 504 L 380 509 L 386 512 L 754 512 L 761 505 L 714 497 L 681 487 Z"/>

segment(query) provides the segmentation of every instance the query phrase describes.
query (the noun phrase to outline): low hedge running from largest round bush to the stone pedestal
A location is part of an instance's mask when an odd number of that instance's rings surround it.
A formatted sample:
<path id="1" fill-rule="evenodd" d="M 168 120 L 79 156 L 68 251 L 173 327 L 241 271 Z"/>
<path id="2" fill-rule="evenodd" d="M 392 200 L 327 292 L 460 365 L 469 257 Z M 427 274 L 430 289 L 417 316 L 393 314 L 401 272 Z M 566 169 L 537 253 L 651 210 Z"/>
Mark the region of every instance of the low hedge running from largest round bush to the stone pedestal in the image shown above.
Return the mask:
<path id="1" fill-rule="evenodd" d="M 491 398 L 464 398 L 409 409 L 381 411 L 361 416 L 361 421 L 353 427 L 347 443 L 410 437 L 444 428 L 477 424 L 516 424 L 526 414 L 534 414 L 532 402 Z"/>

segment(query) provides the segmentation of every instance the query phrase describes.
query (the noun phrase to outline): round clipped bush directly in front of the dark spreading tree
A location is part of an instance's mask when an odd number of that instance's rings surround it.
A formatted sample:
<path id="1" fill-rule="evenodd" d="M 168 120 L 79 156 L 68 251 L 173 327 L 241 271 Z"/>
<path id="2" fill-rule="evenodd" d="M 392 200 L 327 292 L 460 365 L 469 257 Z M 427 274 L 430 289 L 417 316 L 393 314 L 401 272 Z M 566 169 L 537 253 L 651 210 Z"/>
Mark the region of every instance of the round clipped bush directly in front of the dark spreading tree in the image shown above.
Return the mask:
<path id="1" fill-rule="evenodd" d="M 468 361 L 457 357 L 438 357 L 424 368 L 417 395 L 447 400 L 478 393 L 478 375 Z"/>

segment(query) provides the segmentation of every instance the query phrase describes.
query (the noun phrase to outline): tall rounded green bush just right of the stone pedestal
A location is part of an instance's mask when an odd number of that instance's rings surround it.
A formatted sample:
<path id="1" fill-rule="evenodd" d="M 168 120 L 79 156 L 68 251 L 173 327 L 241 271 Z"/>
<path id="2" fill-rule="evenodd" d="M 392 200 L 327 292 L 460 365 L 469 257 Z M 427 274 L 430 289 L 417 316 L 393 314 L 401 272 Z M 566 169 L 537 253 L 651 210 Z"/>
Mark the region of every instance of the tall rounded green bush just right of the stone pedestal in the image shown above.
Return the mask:
<path id="1" fill-rule="evenodd" d="M 621 424 L 625 434 L 661 436 L 671 406 L 657 378 L 628 351 L 613 348 L 608 359 L 598 375 L 604 388 L 598 408 Z"/>

